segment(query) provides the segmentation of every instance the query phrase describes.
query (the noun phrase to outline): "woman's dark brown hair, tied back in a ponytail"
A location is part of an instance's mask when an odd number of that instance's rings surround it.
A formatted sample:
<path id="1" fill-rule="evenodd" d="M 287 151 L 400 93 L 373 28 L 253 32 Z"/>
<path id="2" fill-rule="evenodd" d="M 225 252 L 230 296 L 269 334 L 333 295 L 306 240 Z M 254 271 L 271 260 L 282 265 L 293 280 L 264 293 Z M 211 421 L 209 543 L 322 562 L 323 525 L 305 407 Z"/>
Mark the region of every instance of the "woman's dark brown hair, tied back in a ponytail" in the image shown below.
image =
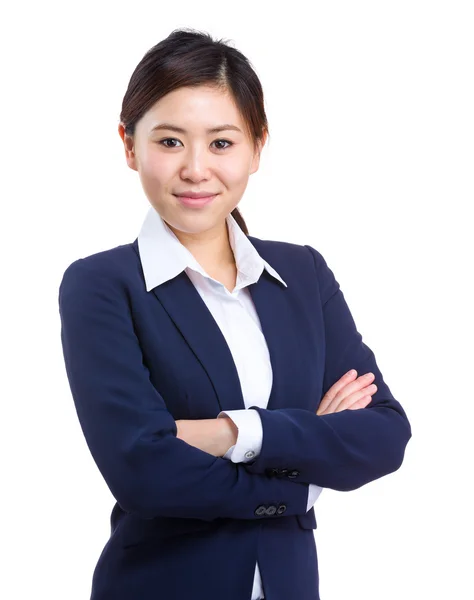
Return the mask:
<path id="1" fill-rule="evenodd" d="M 180 87 L 211 85 L 229 92 L 246 125 L 254 149 L 269 135 L 260 81 L 245 56 L 222 40 L 193 29 L 177 29 L 150 48 L 130 78 L 120 121 L 133 136 L 137 121 L 160 98 Z M 232 216 L 248 235 L 239 209 Z"/>

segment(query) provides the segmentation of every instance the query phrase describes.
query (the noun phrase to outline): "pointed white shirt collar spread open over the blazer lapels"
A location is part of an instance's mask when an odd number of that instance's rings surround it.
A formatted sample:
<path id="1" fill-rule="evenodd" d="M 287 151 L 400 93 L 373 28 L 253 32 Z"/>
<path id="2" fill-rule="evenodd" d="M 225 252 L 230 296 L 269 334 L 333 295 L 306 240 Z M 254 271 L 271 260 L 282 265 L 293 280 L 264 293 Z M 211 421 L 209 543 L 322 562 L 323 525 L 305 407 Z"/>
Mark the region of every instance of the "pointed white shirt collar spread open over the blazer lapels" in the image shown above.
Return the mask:
<path id="1" fill-rule="evenodd" d="M 264 269 L 288 287 L 275 269 L 260 256 L 231 214 L 226 217 L 226 223 L 238 271 L 236 287 L 243 288 L 256 283 Z M 147 292 L 187 268 L 209 277 L 153 206 L 150 206 L 138 235 L 138 249 Z M 166 257 L 166 260 L 159 260 L 161 257 Z"/>

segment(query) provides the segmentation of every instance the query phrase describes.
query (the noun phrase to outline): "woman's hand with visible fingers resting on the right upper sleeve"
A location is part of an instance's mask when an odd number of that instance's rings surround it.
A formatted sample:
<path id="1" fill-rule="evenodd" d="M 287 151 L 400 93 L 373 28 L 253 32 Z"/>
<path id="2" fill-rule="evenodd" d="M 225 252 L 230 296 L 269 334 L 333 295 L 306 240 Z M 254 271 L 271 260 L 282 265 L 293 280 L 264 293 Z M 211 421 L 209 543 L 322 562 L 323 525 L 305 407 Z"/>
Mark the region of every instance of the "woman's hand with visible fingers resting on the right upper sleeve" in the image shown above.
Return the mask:
<path id="1" fill-rule="evenodd" d="M 373 373 L 357 377 L 357 371 L 349 371 L 329 388 L 316 414 L 329 415 L 341 410 L 365 408 L 372 400 L 372 394 L 377 391 L 377 386 L 372 383 L 374 379 Z"/>

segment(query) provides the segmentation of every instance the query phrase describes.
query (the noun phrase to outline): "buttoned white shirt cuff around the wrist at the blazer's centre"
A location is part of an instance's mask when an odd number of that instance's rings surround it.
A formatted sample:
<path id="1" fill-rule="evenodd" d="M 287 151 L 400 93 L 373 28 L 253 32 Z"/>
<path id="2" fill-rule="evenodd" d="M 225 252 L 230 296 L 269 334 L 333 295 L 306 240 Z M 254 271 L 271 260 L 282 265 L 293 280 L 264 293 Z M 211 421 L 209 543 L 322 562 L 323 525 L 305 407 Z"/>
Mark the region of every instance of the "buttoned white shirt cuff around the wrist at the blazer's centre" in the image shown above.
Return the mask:
<path id="1" fill-rule="evenodd" d="M 260 454 L 263 440 L 262 420 L 258 411 L 252 408 L 226 410 L 220 412 L 217 418 L 232 419 L 238 429 L 235 445 L 231 446 L 222 458 L 230 459 L 234 463 L 255 460 Z"/>

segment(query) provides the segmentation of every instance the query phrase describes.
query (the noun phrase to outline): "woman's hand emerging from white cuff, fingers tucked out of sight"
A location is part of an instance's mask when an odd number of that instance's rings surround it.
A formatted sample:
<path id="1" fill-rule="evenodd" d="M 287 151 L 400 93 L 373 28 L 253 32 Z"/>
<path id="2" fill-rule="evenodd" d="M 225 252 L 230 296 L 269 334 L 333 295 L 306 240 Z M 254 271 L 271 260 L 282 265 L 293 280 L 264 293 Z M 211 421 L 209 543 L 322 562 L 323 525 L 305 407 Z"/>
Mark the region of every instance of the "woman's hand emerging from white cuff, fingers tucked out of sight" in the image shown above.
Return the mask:
<path id="1" fill-rule="evenodd" d="M 222 457 L 237 441 L 232 419 L 179 419 L 176 437 L 212 456 Z"/>

